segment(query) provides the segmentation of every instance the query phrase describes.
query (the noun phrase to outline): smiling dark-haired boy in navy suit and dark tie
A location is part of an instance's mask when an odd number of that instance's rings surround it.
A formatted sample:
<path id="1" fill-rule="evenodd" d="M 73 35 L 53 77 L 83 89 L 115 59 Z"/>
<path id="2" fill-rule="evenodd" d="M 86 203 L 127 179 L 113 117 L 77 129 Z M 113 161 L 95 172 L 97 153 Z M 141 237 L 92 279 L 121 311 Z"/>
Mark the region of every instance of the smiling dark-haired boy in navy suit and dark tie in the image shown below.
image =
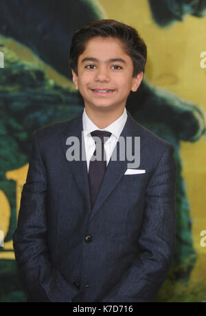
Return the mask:
<path id="1" fill-rule="evenodd" d="M 30 302 L 152 302 L 168 275 L 174 148 L 125 108 L 146 56 L 136 30 L 118 21 L 90 23 L 73 36 L 70 65 L 85 108 L 34 132 L 14 233 Z M 130 163 L 136 150 L 121 159 L 139 137 L 139 164 Z M 72 160 L 76 139 L 80 155 Z"/>

